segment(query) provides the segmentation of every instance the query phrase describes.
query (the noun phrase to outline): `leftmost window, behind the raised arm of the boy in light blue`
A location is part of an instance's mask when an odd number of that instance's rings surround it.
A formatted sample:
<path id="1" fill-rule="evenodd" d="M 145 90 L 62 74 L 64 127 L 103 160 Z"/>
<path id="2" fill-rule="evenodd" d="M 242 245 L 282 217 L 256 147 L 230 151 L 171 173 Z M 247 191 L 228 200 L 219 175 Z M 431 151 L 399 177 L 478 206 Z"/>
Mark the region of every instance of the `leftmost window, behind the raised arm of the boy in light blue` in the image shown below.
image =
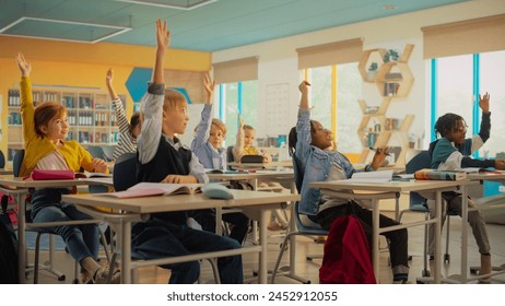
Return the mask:
<path id="1" fill-rule="evenodd" d="M 227 128 L 225 145 L 234 145 L 238 128 L 238 115 L 246 125 L 258 125 L 258 81 L 220 84 L 214 94 L 214 117 Z"/>

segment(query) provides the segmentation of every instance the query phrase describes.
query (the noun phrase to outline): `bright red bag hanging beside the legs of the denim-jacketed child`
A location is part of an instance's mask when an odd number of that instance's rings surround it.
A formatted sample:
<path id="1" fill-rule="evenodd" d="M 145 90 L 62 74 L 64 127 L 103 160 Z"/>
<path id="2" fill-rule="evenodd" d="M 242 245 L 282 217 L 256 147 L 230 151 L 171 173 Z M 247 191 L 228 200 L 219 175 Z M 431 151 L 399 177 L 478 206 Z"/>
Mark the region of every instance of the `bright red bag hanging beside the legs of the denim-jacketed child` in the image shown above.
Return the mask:
<path id="1" fill-rule="evenodd" d="M 365 231 L 354 215 L 344 215 L 333 221 L 325 244 L 319 283 L 377 283 Z"/>

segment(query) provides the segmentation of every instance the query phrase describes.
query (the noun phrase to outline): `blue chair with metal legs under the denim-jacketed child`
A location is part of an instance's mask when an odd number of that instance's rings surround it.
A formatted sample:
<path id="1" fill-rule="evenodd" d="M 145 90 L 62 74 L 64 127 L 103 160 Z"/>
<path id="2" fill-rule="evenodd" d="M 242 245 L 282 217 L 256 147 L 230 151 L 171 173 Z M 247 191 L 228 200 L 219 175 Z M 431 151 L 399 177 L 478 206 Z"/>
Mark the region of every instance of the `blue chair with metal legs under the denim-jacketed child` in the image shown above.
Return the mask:
<path id="1" fill-rule="evenodd" d="M 296 185 L 296 190 L 300 193 L 300 191 L 302 190 L 302 183 L 303 183 L 303 167 L 300 161 L 295 157 L 295 155 L 293 155 L 293 170 L 294 170 L 294 180 Z M 295 242 L 295 239 L 291 239 L 291 237 L 294 238 L 294 236 L 307 236 L 309 238 L 313 238 L 314 236 L 327 236 L 328 235 L 328 231 L 325 231 L 320 227 L 305 225 L 300 219 L 298 205 L 300 203 L 296 202 L 293 207 L 294 213 L 292 214 L 291 217 L 295 219 L 296 226 L 295 228 L 290 228 L 291 229 L 290 233 L 285 235 L 284 240 L 282 242 L 281 250 L 277 258 L 275 267 L 273 268 L 273 271 L 272 271 L 272 281 L 271 281 L 272 284 L 275 282 L 277 271 L 279 270 L 279 266 L 281 263 L 282 256 L 284 255 L 284 251 L 286 249 L 285 246 L 287 246 L 287 242 L 290 243 Z M 295 246 L 291 245 L 291 248 L 294 248 L 294 247 Z M 295 263 L 291 262 L 290 264 L 295 264 Z M 309 280 L 304 280 L 301 276 L 295 275 L 292 269 L 290 270 L 291 270 L 290 273 L 286 274 L 285 276 L 294 279 L 302 283 L 307 283 L 307 284 L 310 283 Z"/>

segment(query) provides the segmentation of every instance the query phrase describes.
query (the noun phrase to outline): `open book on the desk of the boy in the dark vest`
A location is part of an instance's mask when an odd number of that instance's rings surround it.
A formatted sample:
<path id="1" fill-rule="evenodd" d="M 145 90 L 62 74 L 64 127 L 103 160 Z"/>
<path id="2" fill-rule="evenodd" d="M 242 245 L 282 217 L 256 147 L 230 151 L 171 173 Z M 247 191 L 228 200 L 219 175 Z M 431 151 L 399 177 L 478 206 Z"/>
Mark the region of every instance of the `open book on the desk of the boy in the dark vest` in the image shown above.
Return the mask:
<path id="1" fill-rule="evenodd" d="M 152 196 L 192 195 L 201 192 L 203 184 L 164 184 L 164 183 L 139 183 L 127 190 L 97 193 L 99 196 L 119 199 L 141 198 Z"/>

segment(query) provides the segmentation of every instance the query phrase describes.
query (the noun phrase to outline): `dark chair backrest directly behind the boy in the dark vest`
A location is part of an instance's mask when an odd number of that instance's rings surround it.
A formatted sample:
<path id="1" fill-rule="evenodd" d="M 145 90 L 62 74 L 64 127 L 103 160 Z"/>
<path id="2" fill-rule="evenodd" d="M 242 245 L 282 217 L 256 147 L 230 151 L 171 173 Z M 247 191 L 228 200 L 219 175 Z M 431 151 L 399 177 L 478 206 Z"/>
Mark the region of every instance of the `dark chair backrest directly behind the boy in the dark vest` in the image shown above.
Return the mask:
<path id="1" fill-rule="evenodd" d="M 116 191 L 126 190 L 138 183 L 137 153 L 125 153 L 116 160 L 113 183 Z"/>

